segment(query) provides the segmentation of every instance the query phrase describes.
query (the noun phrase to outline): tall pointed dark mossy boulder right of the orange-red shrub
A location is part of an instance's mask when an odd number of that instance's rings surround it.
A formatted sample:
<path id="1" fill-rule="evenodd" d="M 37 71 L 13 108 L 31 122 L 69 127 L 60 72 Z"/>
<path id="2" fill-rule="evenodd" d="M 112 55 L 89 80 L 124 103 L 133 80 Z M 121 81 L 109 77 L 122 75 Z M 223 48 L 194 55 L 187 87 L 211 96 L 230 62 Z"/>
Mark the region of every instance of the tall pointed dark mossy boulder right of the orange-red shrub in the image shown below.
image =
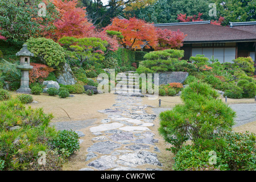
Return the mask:
<path id="1" fill-rule="evenodd" d="M 76 83 L 75 76 L 68 63 L 59 65 L 60 69 L 55 71 L 57 82 L 63 85 L 74 85 Z"/>

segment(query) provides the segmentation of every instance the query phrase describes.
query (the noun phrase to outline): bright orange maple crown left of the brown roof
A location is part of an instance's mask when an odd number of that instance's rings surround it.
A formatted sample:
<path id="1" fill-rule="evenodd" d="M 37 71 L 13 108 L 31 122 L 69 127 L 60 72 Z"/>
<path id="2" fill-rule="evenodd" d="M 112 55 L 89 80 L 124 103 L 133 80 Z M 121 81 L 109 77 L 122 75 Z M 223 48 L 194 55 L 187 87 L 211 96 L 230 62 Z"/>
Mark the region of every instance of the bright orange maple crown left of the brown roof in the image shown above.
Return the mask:
<path id="1" fill-rule="evenodd" d="M 158 37 L 153 24 L 146 23 L 137 18 L 119 19 L 114 18 L 112 24 L 105 27 L 105 30 L 122 32 L 123 39 L 121 44 L 129 49 L 155 48 L 158 44 Z"/>

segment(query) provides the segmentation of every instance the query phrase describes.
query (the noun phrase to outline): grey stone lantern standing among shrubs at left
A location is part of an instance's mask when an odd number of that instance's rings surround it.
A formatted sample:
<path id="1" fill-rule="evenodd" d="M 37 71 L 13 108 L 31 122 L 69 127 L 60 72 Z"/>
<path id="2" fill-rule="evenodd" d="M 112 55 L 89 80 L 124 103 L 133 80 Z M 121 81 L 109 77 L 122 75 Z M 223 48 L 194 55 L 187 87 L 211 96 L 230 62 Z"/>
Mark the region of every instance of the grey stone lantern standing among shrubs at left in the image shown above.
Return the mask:
<path id="1" fill-rule="evenodd" d="M 30 56 L 34 56 L 34 53 L 31 53 L 27 49 L 27 45 L 24 44 L 23 48 L 16 53 L 16 56 L 20 56 L 20 64 L 18 65 L 18 69 L 22 72 L 22 77 L 20 80 L 20 88 L 16 90 L 17 93 L 31 93 L 30 89 L 30 78 L 28 77 L 28 72 L 33 68 L 30 65 Z"/>

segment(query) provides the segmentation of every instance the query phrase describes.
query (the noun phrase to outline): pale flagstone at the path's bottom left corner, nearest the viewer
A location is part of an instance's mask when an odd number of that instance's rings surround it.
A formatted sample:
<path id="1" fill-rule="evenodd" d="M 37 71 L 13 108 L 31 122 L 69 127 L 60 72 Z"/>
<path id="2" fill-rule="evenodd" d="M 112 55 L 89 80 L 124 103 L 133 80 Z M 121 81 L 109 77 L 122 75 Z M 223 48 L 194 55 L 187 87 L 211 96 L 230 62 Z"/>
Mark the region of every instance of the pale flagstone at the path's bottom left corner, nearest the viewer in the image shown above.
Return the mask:
<path id="1" fill-rule="evenodd" d="M 93 162 L 90 162 L 88 166 L 104 171 L 109 168 L 117 167 L 118 165 L 115 163 L 115 160 L 117 160 L 116 156 L 103 155 L 100 158 L 93 160 Z"/>

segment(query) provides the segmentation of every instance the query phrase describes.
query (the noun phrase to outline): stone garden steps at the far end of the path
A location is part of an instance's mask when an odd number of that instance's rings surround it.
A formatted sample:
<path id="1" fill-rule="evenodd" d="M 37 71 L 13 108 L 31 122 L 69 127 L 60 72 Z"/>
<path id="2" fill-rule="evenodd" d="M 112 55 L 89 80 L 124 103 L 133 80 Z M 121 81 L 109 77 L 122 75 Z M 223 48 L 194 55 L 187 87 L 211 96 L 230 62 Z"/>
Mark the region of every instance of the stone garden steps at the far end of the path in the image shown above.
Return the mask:
<path id="1" fill-rule="evenodd" d="M 134 75 L 134 71 L 127 71 L 118 73 L 116 80 L 117 85 L 115 86 L 115 94 L 122 96 L 137 96 L 144 97 L 139 89 L 138 76 Z"/>

